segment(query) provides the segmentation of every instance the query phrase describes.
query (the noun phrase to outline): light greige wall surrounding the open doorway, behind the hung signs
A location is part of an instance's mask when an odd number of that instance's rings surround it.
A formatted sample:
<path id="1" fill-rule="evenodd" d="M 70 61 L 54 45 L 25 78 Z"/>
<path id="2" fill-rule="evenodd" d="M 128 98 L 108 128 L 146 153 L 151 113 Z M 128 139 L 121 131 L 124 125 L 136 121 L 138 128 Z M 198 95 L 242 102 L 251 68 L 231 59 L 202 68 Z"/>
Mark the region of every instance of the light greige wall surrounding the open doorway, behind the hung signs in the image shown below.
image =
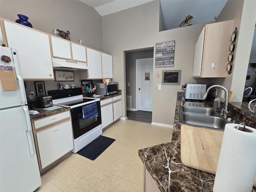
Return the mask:
<path id="1" fill-rule="evenodd" d="M 154 47 L 158 42 L 175 40 L 174 67 L 155 68 L 153 71 L 152 122 L 173 124 L 176 94 L 181 85 L 196 82 L 192 77 L 194 46 L 204 24 L 159 32 L 160 1 L 130 8 L 102 17 L 104 51 L 113 56 L 114 81 L 122 90 L 122 114 L 126 116 L 124 51 Z M 155 53 L 154 53 L 155 54 Z M 154 58 L 155 59 L 155 58 Z M 162 70 L 182 70 L 180 86 L 162 85 Z M 160 78 L 156 78 L 156 74 Z M 200 80 L 198 80 L 200 81 Z"/>

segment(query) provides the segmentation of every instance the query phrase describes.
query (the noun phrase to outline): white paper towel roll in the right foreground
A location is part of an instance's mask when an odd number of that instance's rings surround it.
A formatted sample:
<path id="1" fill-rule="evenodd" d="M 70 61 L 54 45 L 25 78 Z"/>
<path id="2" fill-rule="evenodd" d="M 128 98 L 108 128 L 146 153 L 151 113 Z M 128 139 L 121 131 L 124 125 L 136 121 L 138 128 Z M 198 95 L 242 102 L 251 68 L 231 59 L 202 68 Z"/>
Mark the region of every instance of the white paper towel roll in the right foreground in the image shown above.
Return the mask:
<path id="1" fill-rule="evenodd" d="M 256 174 L 256 129 L 226 124 L 213 186 L 214 192 L 251 192 Z M 250 132 L 249 132 L 250 131 Z"/>

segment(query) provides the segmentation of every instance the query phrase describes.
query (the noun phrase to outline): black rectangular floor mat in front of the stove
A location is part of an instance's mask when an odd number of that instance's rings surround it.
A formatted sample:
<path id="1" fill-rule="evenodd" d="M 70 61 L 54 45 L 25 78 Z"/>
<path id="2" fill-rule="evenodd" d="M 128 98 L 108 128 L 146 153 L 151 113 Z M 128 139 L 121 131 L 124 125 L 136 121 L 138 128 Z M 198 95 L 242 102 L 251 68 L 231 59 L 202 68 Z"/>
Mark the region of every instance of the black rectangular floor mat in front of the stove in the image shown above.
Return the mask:
<path id="1" fill-rule="evenodd" d="M 90 144 L 82 148 L 77 153 L 90 159 L 95 160 L 106 148 L 108 148 L 115 139 L 108 138 L 105 136 L 99 136 L 94 141 L 92 141 Z"/>

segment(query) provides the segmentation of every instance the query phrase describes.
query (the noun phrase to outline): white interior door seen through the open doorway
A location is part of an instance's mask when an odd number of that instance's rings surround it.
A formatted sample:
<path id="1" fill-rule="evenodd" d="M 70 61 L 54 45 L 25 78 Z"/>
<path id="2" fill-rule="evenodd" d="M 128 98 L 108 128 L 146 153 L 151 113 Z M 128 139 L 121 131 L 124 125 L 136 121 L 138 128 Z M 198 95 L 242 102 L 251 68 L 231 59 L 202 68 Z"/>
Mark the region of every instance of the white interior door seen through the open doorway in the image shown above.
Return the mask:
<path id="1" fill-rule="evenodd" d="M 136 60 L 138 77 L 138 110 L 152 111 L 153 97 L 153 58 Z"/>

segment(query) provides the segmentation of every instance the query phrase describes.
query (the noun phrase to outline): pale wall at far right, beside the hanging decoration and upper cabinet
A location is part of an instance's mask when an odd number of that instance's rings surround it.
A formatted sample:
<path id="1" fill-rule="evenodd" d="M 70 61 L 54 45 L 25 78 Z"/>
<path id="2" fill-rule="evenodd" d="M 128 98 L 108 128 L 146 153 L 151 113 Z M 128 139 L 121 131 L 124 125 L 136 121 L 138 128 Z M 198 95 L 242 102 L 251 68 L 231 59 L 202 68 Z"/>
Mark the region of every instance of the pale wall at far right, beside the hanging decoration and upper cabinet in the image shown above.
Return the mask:
<path id="1" fill-rule="evenodd" d="M 217 84 L 234 91 L 233 102 L 242 102 L 256 22 L 255 10 L 256 1 L 229 0 L 216 20 L 216 22 L 219 22 L 234 19 L 233 31 L 235 27 L 238 28 L 232 73 L 224 79 L 216 80 Z"/>

